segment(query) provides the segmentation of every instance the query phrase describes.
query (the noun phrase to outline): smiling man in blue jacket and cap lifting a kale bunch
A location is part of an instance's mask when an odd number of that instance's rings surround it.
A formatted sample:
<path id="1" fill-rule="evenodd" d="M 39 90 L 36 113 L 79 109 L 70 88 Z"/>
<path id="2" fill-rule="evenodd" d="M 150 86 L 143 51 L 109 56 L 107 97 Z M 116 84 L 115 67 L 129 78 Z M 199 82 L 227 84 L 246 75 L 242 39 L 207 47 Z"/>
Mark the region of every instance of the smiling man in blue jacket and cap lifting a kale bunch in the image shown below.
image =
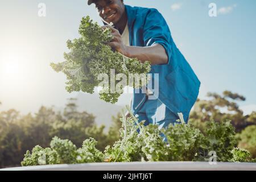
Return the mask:
<path id="1" fill-rule="evenodd" d="M 112 30 L 114 39 L 109 46 L 127 57 L 137 57 L 142 63 L 151 62 L 152 80 L 159 74 L 159 94 L 154 100 L 148 95 L 135 93 L 131 110 L 139 121 L 167 127 L 183 113 L 188 121 L 189 112 L 199 94 L 200 81 L 184 56 L 177 49 L 170 29 L 156 9 L 131 7 L 123 0 L 89 0 L 94 3 L 105 26 Z M 108 25 L 113 23 L 113 27 Z"/>

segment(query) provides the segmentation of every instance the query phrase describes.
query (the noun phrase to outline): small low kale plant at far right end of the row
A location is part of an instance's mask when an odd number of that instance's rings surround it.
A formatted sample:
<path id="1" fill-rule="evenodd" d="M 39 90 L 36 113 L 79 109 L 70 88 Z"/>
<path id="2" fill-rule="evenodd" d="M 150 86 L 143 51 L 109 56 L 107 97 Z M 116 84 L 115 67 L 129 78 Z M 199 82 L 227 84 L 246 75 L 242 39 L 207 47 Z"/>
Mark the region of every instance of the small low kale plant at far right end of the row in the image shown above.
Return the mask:
<path id="1" fill-rule="evenodd" d="M 230 162 L 249 162 L 250 161 L 250 152 L 242 149 L 242 148 L 233 148 L 231 151 L 232 159 L 230 159 Z"/>

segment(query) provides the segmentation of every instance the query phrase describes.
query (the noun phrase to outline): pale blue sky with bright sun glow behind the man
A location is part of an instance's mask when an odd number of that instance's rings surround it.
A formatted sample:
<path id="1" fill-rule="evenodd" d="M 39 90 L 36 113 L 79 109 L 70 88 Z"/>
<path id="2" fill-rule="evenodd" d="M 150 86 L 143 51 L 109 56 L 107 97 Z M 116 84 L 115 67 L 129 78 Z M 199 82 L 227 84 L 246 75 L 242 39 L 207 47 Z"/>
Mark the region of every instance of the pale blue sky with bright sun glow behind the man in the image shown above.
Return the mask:
<path id="1" fill-rule="evenodd" d="M 163 14 L 177 47 L 201 81 L 200 98 L 228 89 L 247 98 L 241 103 L 244 109 L 256 110 L 255 0 L 124 1 Z M 208 15 L 211 2 L 217 5 L 217 17 Z M 39 3 L 46 4 L 46 17 L 38 16 Z M 100 22 L 86 0 L 1 1 L 0 110 L 27 113 L 41 105 L 62 107 L 77 95 L 65 91 L 65 76 L 49 63 L 64 60 L 65 42 L 79 36 L 80 20 L 86 15 Z M 129 98 L 122 96 L 119 104 Z"/>

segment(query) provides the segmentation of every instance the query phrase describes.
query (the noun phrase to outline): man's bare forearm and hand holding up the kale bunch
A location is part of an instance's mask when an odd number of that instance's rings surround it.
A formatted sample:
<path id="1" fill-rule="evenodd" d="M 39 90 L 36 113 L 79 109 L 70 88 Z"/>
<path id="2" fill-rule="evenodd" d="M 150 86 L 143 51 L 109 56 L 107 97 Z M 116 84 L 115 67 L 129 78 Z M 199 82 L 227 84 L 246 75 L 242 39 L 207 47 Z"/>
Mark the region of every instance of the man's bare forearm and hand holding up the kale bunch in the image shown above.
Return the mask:
<path id="1" fill-rule="evenodd" d="M 110 28 L 114 39 L 112 42 L 107 43 L 110 47 L 116 51 L 122 53 L 127 57 L 137 58 L 142 63 L 144 61 L 150 61 L 151 64 L 167 64 L 168 56 L 164 47 L 160 44 L 153 44 L 148 47 L 137 47 L 137 46 L 125 46 L 123 44 L 119 31 L 111 26 L 103 26 L 102 28 Z"/>

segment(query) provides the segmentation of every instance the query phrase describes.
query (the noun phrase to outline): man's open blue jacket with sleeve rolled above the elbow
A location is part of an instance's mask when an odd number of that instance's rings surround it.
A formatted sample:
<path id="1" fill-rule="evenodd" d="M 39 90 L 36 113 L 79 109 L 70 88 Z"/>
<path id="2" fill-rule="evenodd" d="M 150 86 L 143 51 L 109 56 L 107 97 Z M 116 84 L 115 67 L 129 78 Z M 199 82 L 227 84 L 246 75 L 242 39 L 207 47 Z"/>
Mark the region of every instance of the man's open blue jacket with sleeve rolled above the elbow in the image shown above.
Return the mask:
<path id="1" fill-rule="evenodd" d="M 158 98 L 176 115 L 183 113 L 185 121 L 188 121 L 189 112 L 199 94 L 200 81 L 172 40 L 166 20 L 156 9 L 128 5 L 125 9 L 131 46 L 145 47 L 158 43 L 166 49 L 168 63 L 151 66 L 152 75 L 159 73 Z M 154 82 L 154 76 L 152 80 Z M 137 114 L 144 100 L 146 94 L 133 94 L 131 110 L 134 114 Z"/>

